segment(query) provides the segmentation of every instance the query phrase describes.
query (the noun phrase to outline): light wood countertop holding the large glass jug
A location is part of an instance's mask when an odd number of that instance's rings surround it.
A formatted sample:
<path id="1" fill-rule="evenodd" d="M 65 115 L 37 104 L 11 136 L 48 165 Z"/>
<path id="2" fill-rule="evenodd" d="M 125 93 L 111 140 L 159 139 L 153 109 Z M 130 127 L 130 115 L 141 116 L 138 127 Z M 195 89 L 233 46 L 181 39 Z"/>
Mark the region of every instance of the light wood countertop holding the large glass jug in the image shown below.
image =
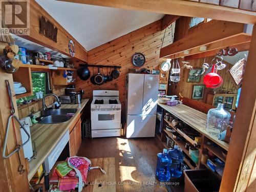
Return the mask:
<path id="1" fill-rule="evenodd" d="M 184 104 L 168 106 L 158 103 L 158 105 L 228 151 L 229 144 L 227 142 L 221 141 L 218 137 L 212 136 L 205 131 L 206 114 Z"/>

